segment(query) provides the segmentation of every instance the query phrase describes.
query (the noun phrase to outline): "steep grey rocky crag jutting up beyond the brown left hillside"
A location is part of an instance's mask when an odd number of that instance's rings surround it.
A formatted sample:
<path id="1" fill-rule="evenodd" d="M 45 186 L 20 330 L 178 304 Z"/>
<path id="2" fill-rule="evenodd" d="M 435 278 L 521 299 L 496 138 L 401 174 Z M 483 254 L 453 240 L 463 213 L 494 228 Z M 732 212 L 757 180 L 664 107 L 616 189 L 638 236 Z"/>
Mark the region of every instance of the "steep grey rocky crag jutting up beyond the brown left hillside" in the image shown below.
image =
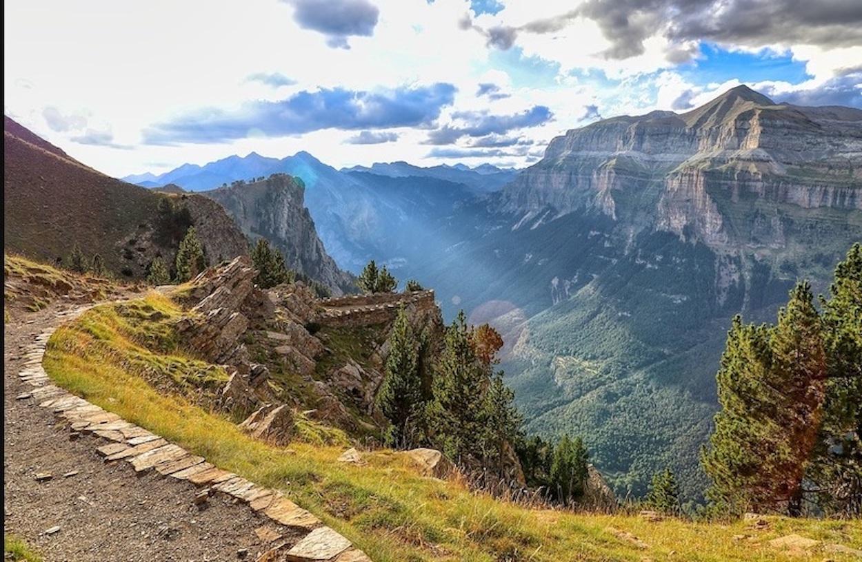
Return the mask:
<path id="1" fill-rule="evenodd" d="M 273 174 L 257 182 L 234 182 L 203 195 L 218 201 L 249 238 L 268 239 L 284 254 L 290 269 L 308 275 L 334 294 L 352 289 L 353 278 L 338 268 L 317 236 L 305 207 L 302 181 Z"/>

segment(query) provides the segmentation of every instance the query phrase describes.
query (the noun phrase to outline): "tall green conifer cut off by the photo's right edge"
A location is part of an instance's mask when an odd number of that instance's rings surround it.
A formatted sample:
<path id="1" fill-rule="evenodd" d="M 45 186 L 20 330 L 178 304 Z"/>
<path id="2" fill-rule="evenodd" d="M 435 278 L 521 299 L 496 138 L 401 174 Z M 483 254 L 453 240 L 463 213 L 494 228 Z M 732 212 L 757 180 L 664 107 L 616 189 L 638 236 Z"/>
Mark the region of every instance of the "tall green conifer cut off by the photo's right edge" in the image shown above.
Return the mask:
<path id="1" fill-rule="evenodd" d="M 862 516 L 862 245 L 835 269 L 821 297 L 827 349 L 826 398 L 809 479 L 828 514 Z"/>

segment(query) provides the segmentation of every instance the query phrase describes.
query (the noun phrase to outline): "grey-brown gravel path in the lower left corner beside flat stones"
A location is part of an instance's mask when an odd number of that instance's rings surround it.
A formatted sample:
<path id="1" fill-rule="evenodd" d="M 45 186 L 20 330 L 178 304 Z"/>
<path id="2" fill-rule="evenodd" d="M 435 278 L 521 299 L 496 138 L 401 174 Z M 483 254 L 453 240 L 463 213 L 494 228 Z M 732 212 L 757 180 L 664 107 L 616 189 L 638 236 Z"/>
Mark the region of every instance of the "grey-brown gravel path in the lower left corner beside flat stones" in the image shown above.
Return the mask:
<path id="1" fill-rule="evenodd" d="M 247 504 L 214 496 L 198 508 L 194 485 L 154 471 L 139 476 L 126 462 L 105 463 L 96 451 L 103 441 L 93 435 L 72 440 L 50 408 L 16 399 L 32 390 L 17 376 L 23 350 L 70 308 L 60 301 L 4 326 L 5 531 L 47 561 L 256 559 L 267 548 L 255 529 L 273 526 Z M 37 472 L 53 476 L 37 481 Z"/>

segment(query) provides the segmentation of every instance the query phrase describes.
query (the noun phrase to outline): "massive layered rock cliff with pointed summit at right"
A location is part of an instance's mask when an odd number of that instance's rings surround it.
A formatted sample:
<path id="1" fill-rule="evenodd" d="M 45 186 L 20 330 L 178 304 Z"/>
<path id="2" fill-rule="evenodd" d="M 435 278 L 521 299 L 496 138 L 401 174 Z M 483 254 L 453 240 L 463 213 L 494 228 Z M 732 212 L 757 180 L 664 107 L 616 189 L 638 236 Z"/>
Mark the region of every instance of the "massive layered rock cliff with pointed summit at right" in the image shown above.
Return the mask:
<path id="1" fill-rule="evenodd" d="M 776 104 L 740 86 L 688 113 L 616 117 L 553 139 L 500 208 L 519 226 L 595 209 L 719 248 L 753 242 L 763 218 L 746 211 L 760 203 L 862 210 L 860 161 L 862 110 Z M 761 228 L 757 243 L 782 240 Z"/>

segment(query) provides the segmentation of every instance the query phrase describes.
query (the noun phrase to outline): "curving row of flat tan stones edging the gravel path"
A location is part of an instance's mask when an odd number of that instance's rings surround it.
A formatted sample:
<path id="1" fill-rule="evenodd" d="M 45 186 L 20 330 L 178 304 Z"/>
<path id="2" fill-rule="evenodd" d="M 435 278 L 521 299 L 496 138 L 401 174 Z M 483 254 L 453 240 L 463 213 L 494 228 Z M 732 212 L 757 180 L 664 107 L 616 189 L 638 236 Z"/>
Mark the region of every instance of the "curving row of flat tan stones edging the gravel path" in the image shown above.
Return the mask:
<path id="1" fill-rule="evenodd" d="M 66 321 L 90 308 L 82 306 L 60 312 L 56 318 Z M 365 553 L 353 547 L 350 540 L 324 526 L 320 519 L 291 502 L 282 492 L 222 470 L 203 457 L 53 385 L 42 367 L 42 359 L 54 330 L 56 328 L 43 330 L 25 349 L 24 367 L 18 376 L 34 388 L 17 398 L 33 398 L 34 404 L 50 408 L 55 416 L 66 419 L 73 432 L 96 435 L 104 442 L 97 448 L 97 453 L 104 457 L 105 462 L 125 461 L 135 472 L 154 470 L 164 477 L 207 487 L 212 493 L 234 497 L 247 503 L 260 516 L 304 534 L 286 553 L 277 546 L 270 551 L 274 558 L 267 558 L 265 554 L 262 559 L 278 560 L 286 556 L 291 562 L 371 562 Z"/>

